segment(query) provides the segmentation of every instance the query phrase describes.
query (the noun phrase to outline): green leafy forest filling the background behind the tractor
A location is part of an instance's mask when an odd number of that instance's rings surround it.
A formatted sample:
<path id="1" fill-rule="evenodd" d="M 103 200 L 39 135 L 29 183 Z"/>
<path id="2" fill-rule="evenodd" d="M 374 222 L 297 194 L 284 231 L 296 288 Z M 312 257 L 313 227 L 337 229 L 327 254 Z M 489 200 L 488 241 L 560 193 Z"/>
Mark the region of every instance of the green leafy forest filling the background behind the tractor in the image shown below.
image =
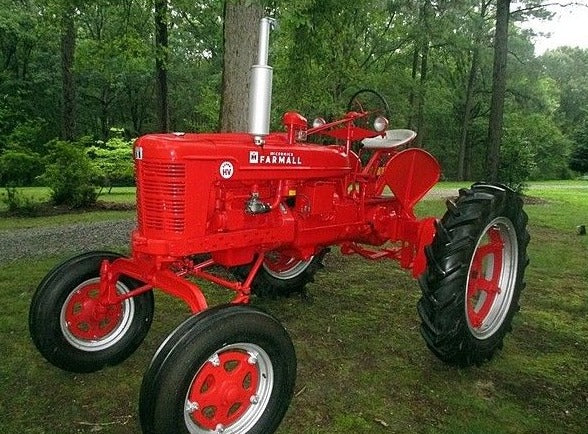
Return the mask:
<path id="1" fill-rule="evenodd" d="M 511 2 L 228 2 L 279 20 L 273 128 L 285 110 L 329 119 L 358 89 L 376 89 L 391 127 L 418 131 L 456 180 L 487 176 L 501 3 Z M 500 179 L 515 185 L 588 172 L 588 50 L 536 56 L 521 26 L 550 19 L 548 3 L 510 4 Z M 221 0 L 0 0 L 0 185 L 132 184 L 133 138 L 221 129 L 227 9 Z M 68 165 L 83 173 L 64 173 Z"/>

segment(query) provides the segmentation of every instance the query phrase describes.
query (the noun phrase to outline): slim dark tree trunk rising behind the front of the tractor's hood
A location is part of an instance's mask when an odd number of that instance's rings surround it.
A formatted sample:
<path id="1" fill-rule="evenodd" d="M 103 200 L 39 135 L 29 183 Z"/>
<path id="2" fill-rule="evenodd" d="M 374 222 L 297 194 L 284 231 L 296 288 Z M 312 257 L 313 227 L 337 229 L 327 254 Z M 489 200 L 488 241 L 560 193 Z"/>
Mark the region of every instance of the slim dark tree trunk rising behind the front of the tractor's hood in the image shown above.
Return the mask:
<path id="1" fill-rule="evenodd" d="M 167 89 L 168 41 L 167 0 L 155 0 L 155 76 L 157 120 L 161 131 L 169 131 L 169 104 Z"/>

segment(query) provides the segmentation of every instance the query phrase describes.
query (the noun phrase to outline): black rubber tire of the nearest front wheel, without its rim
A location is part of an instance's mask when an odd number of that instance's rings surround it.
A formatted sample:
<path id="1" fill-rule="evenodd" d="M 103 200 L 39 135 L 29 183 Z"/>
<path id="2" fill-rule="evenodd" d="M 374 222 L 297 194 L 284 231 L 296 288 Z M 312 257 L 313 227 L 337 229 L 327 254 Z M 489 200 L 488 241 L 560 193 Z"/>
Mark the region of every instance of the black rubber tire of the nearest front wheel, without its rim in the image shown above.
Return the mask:
<path id="1" fill-rule="evenodd" d="M 147 372 L 143 377 L 139 397 L 139 415 L 143 432 L 149 434 L 162 434 L 167 432 L 186 432 L 181 424 L 180 412 L 176 407 L 170 408 L 171 401 L 183 405 L 183 399 L 187 390 L 179 384 L 184 382 L 178 366 L 186 366 L 186 360 L 192 359 L 197 366 L 205 362 L 210 352 L 221 349 L 226 343 L 231 343 L 231 334 L 236 332 L 239 325 L 249 322 L 263 323 L 264 333 L 273 334 L 276 341 L 283 345 L 280 356 L 286 360 L 286 372 L 282 372 L 277 381 L 283 381 L 276 386 L 281 399 L 276 401 L 277 411 L 269 412 L 262 417 L 260 422 L 250 432 L 258 434 L 272 433 L 283 418 L 285 411 L 292 399 L 294 381 L 296 378 L 296 355 L 292 342 L 286 330 L 271 315 L 250 306 L 222 305 L 205 310 L 194 315 L 180 324 L 164 341 L 155 354 Z M 237 340 L 243 341 L 243 338 Z M 219 346 L 220 345 L 220 346 Z M 179 363 L 179 365 L 178 365 Z M 190 364 L 194 364 L 190 362 Z M 195 372 L 191 373 L 194 375 Z M 188 384 L 189 385 L 189 384 Z M 175 397 L 170 396 L 169 391 L 174 390 Z M 177 401 L 177 402 L 176 402 Z M 179 410 L 183 407 L 180 405 Z"/>

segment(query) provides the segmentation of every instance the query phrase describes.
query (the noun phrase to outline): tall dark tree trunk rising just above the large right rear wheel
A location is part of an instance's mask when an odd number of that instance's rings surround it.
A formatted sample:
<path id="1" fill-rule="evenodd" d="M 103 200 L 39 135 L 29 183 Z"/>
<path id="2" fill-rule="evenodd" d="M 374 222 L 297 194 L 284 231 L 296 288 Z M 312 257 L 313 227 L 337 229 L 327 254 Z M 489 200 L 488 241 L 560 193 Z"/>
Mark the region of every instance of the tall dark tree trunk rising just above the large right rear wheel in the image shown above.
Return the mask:
<path id="1" fill-rule="evenodd" d="M 498 181 L 500 167 L 500 143 L 504 117 L 504 95 L 506 92 L 506 60 L 508 55 L 508 21 L 510 0 L 497 0 L 496 30 L 494 34 L 494 69 L 492 72 L 492 101 L 488 126 L 487 177 Z"/>

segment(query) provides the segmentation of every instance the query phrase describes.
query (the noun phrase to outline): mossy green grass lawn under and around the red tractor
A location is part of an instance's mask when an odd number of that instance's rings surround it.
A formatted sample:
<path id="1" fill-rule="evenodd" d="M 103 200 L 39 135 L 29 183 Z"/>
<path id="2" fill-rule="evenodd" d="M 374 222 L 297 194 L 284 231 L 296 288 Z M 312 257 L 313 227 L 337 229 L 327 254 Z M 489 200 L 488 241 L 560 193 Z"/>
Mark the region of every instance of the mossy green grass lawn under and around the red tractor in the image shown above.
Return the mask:
<path id="1" fill-rule="evenodd" d="M 278 432 L 587 432 L 588 237 L 575 227 L 588 224 L 588 182 L 537 183 L 527 193 L 543 201 L 525 207 L 532 239 L 521 312 L 482 367 L 450 368 L 427 350 L 418 284 L 391 262 L 334 249 L 309 285 L 311 301 L 254 299 L 283 322 L 298 355 L 296 396 Z M 428 200 L 419 214 L 443 209 Z M 27 326 L 35 286 L 60 259 L 0 266 L 0 432 L 139 433 L 142 375 L 188 310 L 156 293 L 152 329 L 128 360 L 63 372 L 37 353 Z"/>

